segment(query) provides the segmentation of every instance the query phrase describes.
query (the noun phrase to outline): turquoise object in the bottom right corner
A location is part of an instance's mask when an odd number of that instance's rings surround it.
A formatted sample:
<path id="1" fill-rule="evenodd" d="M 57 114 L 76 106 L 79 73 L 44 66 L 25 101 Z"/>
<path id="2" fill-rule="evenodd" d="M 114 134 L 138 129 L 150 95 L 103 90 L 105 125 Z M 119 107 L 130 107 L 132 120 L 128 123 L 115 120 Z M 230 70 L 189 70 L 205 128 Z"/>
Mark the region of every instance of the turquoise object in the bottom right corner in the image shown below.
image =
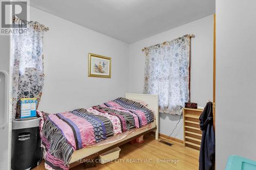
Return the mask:
<path id="1" fill-rule="evenodd" d="M 256 170 L 256 161 L 231 155 L 228 158 L 225 170 Z"/>

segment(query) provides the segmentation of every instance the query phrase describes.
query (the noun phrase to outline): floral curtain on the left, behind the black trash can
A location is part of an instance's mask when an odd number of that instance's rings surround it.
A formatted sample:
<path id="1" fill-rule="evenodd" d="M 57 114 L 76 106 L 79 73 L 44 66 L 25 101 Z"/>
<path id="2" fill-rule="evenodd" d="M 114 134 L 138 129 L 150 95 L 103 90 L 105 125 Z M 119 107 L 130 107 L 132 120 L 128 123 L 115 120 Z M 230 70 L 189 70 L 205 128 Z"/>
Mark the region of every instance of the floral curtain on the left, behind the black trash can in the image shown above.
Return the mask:
<path id="1" fill-rule="evenodd" d="M 23 31 L 12 35 L 12 119 L 20 116 L 20 98 L 37 98 L 37 106 L 40 102 L 44 86 L 42 40 L 49 30 L 38 22 L 16 16 L 13 24 Z"/>

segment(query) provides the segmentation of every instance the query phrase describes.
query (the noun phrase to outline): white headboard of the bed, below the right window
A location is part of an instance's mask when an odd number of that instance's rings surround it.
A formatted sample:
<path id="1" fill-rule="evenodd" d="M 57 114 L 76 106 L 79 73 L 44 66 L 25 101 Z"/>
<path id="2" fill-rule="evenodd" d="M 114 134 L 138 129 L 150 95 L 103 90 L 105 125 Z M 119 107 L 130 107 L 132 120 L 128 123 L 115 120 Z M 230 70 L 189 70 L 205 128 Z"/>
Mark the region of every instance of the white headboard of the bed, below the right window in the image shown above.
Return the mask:
<path id="1" fill-rule="evenodd" d="M 158 109 L 158 94 L 136 94 L 136 93 L 125 93 L 126 99 L 137 99 L 144 101 L 148 107 L 150 107 L 156 116 L 156 140 L 158 140 L 158 133 L 159 133 L 159 109 Z"/>

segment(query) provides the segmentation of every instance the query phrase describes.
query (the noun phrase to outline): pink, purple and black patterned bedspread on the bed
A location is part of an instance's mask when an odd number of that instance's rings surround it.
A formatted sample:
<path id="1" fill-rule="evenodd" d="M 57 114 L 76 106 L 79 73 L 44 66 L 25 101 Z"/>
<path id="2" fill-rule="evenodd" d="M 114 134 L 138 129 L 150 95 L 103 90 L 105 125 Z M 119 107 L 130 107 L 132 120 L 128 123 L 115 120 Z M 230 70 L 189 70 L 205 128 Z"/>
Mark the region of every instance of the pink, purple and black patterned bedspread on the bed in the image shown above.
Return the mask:
<path id="1" fill-rule="evenodd" d="M 38 114 L 42 117 L 40 136 L 42 147 L 46 150 L 47 169 L 69 169 L 69 161 L 75 150 L 154 121 L 150 109 L 125 98 L 87 109 Z"/>

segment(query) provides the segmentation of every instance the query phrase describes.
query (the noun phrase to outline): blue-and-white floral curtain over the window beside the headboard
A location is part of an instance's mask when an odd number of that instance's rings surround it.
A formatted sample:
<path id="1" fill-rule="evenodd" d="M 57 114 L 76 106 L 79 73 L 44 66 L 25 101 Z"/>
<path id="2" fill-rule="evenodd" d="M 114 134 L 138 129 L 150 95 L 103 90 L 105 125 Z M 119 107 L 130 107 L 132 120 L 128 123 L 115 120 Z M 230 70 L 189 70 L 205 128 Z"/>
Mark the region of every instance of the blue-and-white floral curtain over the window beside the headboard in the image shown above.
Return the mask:
<path id="1" fill-rule="evenodd" d="M 144 48 L 144 93 L 159 95 L 159 112 L 181 114 L 189 101 L 190 37 Z"/>

